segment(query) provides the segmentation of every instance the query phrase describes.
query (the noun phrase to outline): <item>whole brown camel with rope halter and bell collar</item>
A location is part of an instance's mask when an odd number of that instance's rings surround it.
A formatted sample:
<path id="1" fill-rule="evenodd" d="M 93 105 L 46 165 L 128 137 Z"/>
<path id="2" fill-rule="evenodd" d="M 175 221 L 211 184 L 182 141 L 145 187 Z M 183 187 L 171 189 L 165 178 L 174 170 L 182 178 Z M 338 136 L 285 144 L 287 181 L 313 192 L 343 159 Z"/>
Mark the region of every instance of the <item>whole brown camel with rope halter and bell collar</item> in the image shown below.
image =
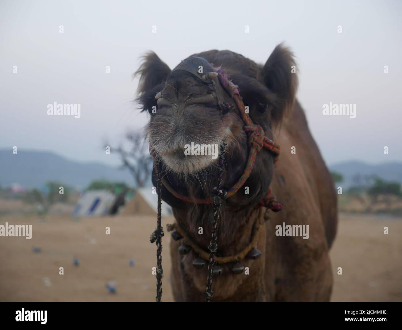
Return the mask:
<path id="1" fill-rule="evenodd" d="M 175 301 L 330 300 L 336 193 L 295 99 L 294 68 L 280 44 L 264 65 L 211 50 L 170 70 L 150 52 L 134 74 L 150 113 L 152 180 L 176 219 L 168 228 Z M 185 154 L 191 143 L 217 145 L 219 157 Z M 287 225 L 307 226 L 307 239 L 279 235 Z M 151 242 L 161 250 L 158 230 Z M 162 270 L 156 277 L 161 295 Z"/>

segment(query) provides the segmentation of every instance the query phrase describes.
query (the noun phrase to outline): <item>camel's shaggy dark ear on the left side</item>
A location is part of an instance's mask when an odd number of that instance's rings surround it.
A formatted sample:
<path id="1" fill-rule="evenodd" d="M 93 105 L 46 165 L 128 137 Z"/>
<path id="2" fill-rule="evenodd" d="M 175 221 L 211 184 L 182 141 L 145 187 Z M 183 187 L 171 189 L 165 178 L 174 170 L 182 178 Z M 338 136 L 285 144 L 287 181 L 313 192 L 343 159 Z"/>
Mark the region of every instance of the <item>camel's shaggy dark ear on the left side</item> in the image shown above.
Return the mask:
<path id="1" fill-rule="evenodd" d="M 155 95 L 163 89 L 169 73 L 170 68 L 154 52 L 148 52 L 142 57 L 141 65 L 133 74 L 133 79 L 140 76 L 137 101 L 142 105 L 142 111 L 150 111 L 152 106 L 157 106 Z"/>

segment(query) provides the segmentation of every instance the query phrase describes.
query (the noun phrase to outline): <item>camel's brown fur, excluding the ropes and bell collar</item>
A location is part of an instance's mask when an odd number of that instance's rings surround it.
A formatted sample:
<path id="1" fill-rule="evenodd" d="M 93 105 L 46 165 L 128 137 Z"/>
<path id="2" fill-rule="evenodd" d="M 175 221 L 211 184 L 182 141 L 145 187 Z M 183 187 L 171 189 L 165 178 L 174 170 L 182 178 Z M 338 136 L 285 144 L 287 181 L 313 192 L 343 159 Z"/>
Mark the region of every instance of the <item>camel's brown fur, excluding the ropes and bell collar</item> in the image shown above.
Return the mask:
<path id="1" fill-rule="evenodd" d="M 254 220 L 265 210 L 255 206 L 268 187 L 283 203 L 283 210 L 275 214 L 269 211 L 270 219 L 265 231 L 260 232 L 256 246 L 263 255 L 257 260 L 242 261 L 250 268 L 249 275 L 234 275 L 230 272 L 233 264 L 225 264 L 222 275 L 213 278 L 213 301 L 328 301 L 332 288 L 328 249 L 336 233 L 336 195 L 303 110 L 298 102 L 294 104 L 297 78 L 291 74 L 293 55 L 279 45 L 263 66 L 230 51 L 212 50 L 194 56 L 203 57 L 214 66 L 222 65 L 239 85 L 253 122 L 261 125 L 265 134 L 281 145 L 277 165 L 273 165 L 272 154 L 261 151 L 244 186 L 224 202 L 218 224 L 218 255 L 238 253 L 248 244 Z M 154 53 L 145 57 L 137 73 L 142 75 L 139 101 L 144 110 L 158 106 L 154 96 L 159 91 L 165 99 L 160 103 L 164 106 L 158 107 L 158 113 L 151 116 L 148 126 L 150 143 L 156 145 L 154 152 L 164 177 L 183 195 L 210 196 L 216 184 L 216 162 L 201 170 L 197 164 L 189 163 L 190 173 L 180 173 L 169 168 L 164 160 L 168 156 L 176 157 L 179 163 L 187 162 L 189 158 L 180 156 L 181 143 L 186 141 L 219 145 L 225 142 L 228 148 L 224 154 L 223 184 L 226 189 L 232 187 L 243 173 L 248 156 L 238 110 L 222 116 L 213 102 L 190 105 L 189 98 L 213 91 L 191 75 L 171 72 Z M 217 93 L 219 98 L 233 104 L 222 88 Z M 296 154 L 291 154 L 292 146 L 296 147 Z M 156 184 L 155 173 L 153 180 Z M 248 195 L 244 187 L 249 187 Z M 212 206 L 183 202 L 164 188 L 162 199 L 172 206 L 176 220 L 189 235 L 207 250 Z M 308 224 L 309 239 L 276 236 L 275 226 L 282 222 Z M 203 235 L 198 235 L 200 226 Z M 179 255 L 180 243 L 172 240 L 170 245 L 174 298 L 176 301 L 204 301 L 207 270 L 196 270 L 192 266 L 197 257 L 194 252 Z"/>

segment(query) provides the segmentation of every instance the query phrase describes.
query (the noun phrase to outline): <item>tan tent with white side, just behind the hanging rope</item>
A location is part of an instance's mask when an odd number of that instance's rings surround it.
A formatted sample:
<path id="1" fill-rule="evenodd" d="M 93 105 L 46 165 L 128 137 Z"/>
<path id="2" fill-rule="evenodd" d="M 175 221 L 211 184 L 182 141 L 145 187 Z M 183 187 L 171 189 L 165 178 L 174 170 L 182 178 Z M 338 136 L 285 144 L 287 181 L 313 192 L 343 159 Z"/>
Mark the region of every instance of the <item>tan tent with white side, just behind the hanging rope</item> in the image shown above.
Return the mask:
<path id="1" fill-rule="evenodd" d="M 158 195 L 152 193 L 152 187 L 139 188 L 134 197 L 125 203 L 123 215 L 141 214 L 155 216 L 158 212 Z M 162 216 L 171 216 L 172 208 L 162 203 Z"/>

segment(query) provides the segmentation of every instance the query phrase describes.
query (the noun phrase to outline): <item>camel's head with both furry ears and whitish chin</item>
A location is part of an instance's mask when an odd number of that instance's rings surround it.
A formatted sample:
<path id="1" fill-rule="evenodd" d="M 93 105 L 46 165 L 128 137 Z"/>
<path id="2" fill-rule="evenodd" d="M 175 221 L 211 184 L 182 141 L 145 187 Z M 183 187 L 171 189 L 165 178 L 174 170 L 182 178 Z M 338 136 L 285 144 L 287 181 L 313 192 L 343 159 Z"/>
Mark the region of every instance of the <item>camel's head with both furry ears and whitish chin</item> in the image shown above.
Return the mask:
<path id="1" fill-rule="evenodd" d="M 254 124 L 274 139 L 273 129 L 293 106 L 297 86 L 293 65 L 291 52 L 281 45 L 263 66 L 233 52 L 209 51 L 170 70 L 155 53 L 148 53 L 134 75 L 140 75 L 142 110 L 150 113 L 147 135 L 154 158 L 170 176 L 207 186 L 224 153 L 225 185 L 236 183 L 249 149 L 240 111 L 247 111 Z M 238 86 L 245 109 L 238 108 L 217 77 L 216 71 L 222 69 Z M 250 184 L 255 181 L 258 187 L 254 197 L 267 190 L 272 168 L 273 155 L 260 152 L 250 176 Z"/>

